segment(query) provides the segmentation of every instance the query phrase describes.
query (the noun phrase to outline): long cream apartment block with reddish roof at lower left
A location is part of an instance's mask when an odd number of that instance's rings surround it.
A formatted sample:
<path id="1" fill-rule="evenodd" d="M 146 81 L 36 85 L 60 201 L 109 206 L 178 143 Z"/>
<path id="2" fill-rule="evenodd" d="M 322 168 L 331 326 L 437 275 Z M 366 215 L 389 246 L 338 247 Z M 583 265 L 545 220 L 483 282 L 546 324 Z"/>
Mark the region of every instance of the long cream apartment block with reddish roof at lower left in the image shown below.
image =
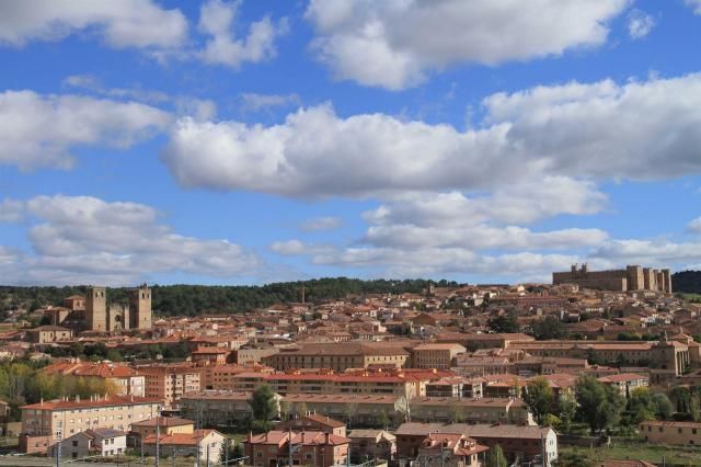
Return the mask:
<path id="1" fill-rule="evenodd" d="M 87 430 L 128 431 L 131 423 L 156 417 L 159 400 L 134 396 L 68 398 L 21 407 L 24 453 L 45 453 L 54 443 Z"/>

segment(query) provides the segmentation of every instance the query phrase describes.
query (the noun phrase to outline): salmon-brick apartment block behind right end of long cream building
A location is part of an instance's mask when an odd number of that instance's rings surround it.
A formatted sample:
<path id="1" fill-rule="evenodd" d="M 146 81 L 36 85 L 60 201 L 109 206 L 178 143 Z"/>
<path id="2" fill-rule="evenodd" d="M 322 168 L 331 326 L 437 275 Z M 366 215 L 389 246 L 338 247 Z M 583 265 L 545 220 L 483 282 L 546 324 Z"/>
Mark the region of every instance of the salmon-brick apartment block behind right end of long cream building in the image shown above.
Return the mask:
<path id="1" fill-rule="evenodd" d="M 145 366 L 139 368 L 146 383 L 146 397 L 176 406 L 184 394 L 200 389 L 199 369 L 186 365 Z"/>

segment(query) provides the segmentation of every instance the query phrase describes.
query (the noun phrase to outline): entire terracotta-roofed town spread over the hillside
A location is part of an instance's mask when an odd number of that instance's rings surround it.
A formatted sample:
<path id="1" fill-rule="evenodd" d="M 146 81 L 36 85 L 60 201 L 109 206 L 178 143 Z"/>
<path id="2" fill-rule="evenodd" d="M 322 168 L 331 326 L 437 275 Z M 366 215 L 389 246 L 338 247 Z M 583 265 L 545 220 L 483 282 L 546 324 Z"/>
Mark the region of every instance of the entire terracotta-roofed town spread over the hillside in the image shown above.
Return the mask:
<path id="1" fill-rule="evenodd" d="M 574 265 L 552 284 L 344 298 L 302 285 L 296 300 L 195 316 L 152 309 L 147 284 L 34 307 L 5 296 L 3 453 L 57 465 L 698 465 L 701 305 L 673 285 L 666 269 Z"/>

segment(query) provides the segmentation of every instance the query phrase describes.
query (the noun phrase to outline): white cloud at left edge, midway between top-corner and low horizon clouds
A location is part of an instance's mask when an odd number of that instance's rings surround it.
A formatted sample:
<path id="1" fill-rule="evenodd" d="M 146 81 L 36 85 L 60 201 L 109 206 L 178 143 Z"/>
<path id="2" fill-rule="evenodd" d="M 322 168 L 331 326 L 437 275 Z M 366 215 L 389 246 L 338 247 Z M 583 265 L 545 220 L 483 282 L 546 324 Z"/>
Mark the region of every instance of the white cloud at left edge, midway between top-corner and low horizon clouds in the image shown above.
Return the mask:
<path id="1" fill-rule="evenodd" d="M 5 91 L 0 93 L 0 166 L 69 168 L 71 147 L 128 148 L 170 123 L 166 112 L 135 102 Z"/>

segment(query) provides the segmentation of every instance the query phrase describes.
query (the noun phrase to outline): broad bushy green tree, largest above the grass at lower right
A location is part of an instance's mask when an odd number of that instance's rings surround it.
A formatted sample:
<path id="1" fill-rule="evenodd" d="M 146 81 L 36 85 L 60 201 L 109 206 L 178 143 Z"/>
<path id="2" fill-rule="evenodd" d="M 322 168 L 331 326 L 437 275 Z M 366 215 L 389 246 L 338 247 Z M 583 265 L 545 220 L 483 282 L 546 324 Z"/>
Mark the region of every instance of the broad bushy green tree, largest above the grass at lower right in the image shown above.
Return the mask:
<path id="1" fill-rule="evenodd" d="M 591 434 L 616 425 L 625 407 L 625 399 L 618 389 L 605 386 L 593 376 L 581 376 L 575 384 L 575 397 L 582 419 Z"/>

